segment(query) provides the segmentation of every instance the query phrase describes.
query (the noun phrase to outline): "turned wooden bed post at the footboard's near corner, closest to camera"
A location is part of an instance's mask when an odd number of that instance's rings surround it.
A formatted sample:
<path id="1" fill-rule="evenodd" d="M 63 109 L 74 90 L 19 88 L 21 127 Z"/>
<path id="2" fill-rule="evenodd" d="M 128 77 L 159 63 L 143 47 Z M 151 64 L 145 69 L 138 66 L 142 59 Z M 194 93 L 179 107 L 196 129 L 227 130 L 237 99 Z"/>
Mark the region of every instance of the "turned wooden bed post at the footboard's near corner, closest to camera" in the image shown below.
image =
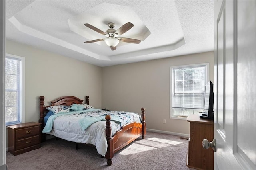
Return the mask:
<path id="1" fill-rule="evenodd" d="M 108 166 L 111 166 L 112 158 L 114 156 L 114 144 L 113 144 L 113 139 L 111 137 L 111 123 L 110 123 L 111 116 L 106 115 L 105 119 L 106 119 L 106 139 L 108 143 L 108 149 L 107 149 L 105 158 L 107 159 Z"/>

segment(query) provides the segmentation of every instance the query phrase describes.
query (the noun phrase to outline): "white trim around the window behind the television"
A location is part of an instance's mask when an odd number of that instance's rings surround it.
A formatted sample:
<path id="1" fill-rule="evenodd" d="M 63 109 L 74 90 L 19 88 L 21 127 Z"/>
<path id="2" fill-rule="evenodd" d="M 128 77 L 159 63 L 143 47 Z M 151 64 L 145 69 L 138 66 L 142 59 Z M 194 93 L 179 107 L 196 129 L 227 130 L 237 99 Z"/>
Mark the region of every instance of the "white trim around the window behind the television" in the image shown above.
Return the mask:
<path id="1" fill-rule="evenodd" d="M 198 63 L 198 64 L 189 64 L 189 65 L 182 65 L 182 66 L 171 66 L 170 67 L 170 119 L 179 119 L 179 120 L 187 120 L 187 117 L 176 117 L 172 116 L 172 82 L 174 81 L 174 78 L 172 76 L 172 69 L 176 68 L 184 68 L 184 67 L 194 67 L 194 66 L 202 66 L 206 65 L 206 83 L 209 82 L 209 63 Z"/>

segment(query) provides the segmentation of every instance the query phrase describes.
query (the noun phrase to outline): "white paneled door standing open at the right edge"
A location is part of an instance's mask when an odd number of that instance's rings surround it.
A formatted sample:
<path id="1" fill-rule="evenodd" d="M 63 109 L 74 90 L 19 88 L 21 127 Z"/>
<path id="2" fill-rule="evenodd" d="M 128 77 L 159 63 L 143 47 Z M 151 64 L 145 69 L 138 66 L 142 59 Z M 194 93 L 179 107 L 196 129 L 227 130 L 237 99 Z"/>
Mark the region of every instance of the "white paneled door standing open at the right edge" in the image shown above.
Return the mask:
<path id="1" fill-rule="evenodd" d="M 215 2 L 214 169 L 256 169 L 256 1 Z"/>

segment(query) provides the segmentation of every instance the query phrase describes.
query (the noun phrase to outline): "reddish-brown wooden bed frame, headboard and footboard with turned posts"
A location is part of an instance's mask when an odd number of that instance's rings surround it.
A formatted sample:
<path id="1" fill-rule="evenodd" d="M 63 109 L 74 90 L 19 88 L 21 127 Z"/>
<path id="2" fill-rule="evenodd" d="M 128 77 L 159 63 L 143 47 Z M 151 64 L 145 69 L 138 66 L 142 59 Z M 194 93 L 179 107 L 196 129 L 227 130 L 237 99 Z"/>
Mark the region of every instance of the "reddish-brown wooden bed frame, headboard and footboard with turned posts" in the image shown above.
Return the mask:
<path id="1" fill-rule="evenodd" d="M 39 123 L 41 123 L 41 130 L 44 129 L 44 116 L 48 112 L 46 109 L 49 106 L 44 106 L 44 96 L 40 96 L 40 119 Z M 67 105 L 70 106 L 72 104 L 82 104 L 83 100 L 75 97 L 75 96 L 63 96 L 56 100 L 51 101 L 51 106 L 53 105 Z M 86 96 L 85 103 L 89 105 L 89 96 Z M 107 159 L 108 166 L 112 165 L 112 158 L 114 153 L 118 150 L 122 149 L 138 137 L 142 136 L 142 139 L 145 139 L 146 135 L 146 122 L 145 122 L 145 109 L 141 108 L 141 117 L 142 122 L 136 123 L 131 122 L 124 125 L 114 136 L 111 135 L 111 123 L 110 123 L 110 115 L 106 115 L 106 139 L 108 143 L 108 149 L 105 155 Z M 46 140 L 46 134 L 41 133 L 41 142 Z"/>

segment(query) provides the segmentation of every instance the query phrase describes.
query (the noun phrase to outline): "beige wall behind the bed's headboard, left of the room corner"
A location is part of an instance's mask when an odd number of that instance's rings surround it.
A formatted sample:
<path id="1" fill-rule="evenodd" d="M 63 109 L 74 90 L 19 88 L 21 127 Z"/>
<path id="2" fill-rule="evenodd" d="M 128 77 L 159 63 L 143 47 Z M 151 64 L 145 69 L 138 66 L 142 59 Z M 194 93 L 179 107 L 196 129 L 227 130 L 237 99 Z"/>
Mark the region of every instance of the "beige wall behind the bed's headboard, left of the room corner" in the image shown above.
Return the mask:
<path id="1" fill-rule="evenodd" d="M 48 106 L 61 96 L 88 95 L 92 106 L 101 107 L 101 67 L 12 41 L 6 53 L 25 57 L 25 122 L 38 122 L 39 96 Z"/>

